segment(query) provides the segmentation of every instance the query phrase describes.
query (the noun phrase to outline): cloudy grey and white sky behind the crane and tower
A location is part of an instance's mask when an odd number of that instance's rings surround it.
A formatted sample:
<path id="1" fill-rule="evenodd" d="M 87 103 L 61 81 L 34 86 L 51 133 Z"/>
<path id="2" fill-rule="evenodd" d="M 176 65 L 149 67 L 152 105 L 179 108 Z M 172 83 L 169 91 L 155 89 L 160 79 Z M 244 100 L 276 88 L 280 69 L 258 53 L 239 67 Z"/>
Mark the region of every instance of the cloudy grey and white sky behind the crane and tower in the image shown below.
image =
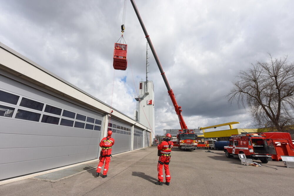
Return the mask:
<path id="1" fill-rule="evenodd" d="M 114 78 L 112 106 L 133 116 L 134 95 L 146 77 L 146 38 L 127 1 L 128 69 L 114 71 L 113 44 L 121 36 L 123 3 L 0 0 L 0 42 L 109 105 Z M 231 121 L 240 122 L 236 128 L 253 128 L 249 111 L 228 103 L 225 95 L 239 71 L 250 68 L 250 63 L 268 61 L 268 52 L 275 58 L 288 54 L 288 61 L 294 61 L 294 2 L 137 0 L 136 4 L 188 128 Z M 180 126 L 149 54 L 155 132 L 162 134 L 163 129 Z"/>

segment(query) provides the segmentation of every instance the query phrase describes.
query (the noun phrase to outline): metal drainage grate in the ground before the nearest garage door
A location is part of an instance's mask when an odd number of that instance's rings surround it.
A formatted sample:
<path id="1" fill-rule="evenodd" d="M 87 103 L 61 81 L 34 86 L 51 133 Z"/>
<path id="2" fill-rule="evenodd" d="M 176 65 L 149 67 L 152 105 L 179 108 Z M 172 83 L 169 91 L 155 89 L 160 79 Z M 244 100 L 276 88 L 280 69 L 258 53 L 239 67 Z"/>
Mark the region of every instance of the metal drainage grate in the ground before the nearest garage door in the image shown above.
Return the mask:
<path id="1" fill-rule="evenodd" d="M 78 175 L 80 173 L 86 172 L 88 170 L 94 169 L 95 165 L 78 165 L 75 167 L 70 167 L 64 170 L 56 171 L 56 172 L 51 172 L 48 174 L 44 175 L 39 175 L 36 177 L 33 177 L 32 179 L 37 179 L 37 180 L 44 180 L 44 181 L 49 181 L 49 182 L 57 182 L 60 180 L 64 180 L 66 178 Z"/>

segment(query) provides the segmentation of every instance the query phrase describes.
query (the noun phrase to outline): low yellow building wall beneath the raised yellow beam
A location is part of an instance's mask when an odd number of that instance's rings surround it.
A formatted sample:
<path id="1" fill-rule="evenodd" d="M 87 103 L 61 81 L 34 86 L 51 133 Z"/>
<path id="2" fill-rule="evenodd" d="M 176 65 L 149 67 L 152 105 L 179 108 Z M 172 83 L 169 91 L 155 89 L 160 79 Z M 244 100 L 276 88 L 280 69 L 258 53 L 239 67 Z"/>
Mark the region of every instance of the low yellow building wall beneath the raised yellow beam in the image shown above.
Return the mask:
<path id="1" fill-rule="evenodd" d="M 204 138 L 221 138 L 221 137 L 230 137 L 231 135 L 238 135 L 243 133 L 256 133 L 258 129 L 227 129 L 220 131 L 210 131 L 204 133 Z"/>

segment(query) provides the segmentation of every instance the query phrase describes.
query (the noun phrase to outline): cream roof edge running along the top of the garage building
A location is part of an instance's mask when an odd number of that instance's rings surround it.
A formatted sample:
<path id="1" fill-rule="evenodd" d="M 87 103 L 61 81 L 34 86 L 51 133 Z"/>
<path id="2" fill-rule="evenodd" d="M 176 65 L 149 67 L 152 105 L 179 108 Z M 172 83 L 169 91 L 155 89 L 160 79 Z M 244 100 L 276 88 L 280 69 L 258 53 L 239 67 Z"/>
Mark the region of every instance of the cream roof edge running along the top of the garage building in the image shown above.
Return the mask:
<path id="1" fill-rule="evenodd" d="M 79 103 L 87 105 L 88 107 L 98 110 L 100 112 L 109 113 L 111 108 L 111 110 L 114 111 L 112 115 L 116 118 L 126 120 L 128 123 L 136 123 L 136 126 L 151 131 L 150 129 L 146 128 L 146 126 L 138 123 L 136 120 L 133 120 L 131 117 L 116 110 L 110 105 L 90 95 L 89 93 L 86 93 L 85 91 L 74 86 L 73 84 L 57 76 L 56 74 L 50 72 L 49 70 L 45 69 L 34 61 L 31 61 L 30 59 L 26 58 L 25 56 L 16 52 L 12 48 L 9 48 L 1 42 L 0 48 L 2 49 L 0 50 L 1 57 L 5 57 L 0 58 L 1 69 L 8 71 L 9 73 L 12 73 L 25 80 L 29 80 L 30 82 L 33 82 L 39 86 L 47 88 L 50 91 L 54 91 L 61 94 L 62 96 L 68 97 Z"/>

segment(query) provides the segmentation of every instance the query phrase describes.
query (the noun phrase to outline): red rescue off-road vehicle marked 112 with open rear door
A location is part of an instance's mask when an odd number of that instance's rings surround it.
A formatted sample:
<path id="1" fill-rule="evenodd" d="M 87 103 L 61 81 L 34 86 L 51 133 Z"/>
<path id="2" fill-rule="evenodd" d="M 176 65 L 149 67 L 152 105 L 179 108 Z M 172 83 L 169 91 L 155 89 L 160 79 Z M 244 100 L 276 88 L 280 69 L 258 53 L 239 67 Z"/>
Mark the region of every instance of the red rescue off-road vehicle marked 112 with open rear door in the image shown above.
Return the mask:
<path id="1" fill-rule="evenodd" d="M 240 134 L 230 137 L 230 143 L 224 147 L 224 152 L 228 158 L 245 154 L 247 158 L 268 163 L 268 158 L 275 153 L 275 146 L 273 140 L 266 138 L 265 134 Z"/>

